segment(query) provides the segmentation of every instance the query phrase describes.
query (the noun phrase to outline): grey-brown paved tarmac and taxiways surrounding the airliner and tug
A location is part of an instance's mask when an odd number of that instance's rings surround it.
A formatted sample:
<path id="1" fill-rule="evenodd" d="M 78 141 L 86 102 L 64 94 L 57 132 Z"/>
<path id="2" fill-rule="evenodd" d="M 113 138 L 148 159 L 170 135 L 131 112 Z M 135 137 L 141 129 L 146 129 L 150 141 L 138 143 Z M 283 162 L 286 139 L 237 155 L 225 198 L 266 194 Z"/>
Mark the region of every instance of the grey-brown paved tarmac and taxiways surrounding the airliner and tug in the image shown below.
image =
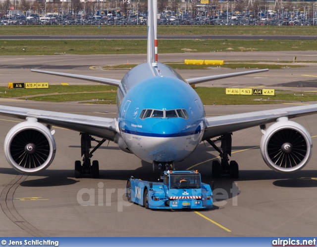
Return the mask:
<path id="1" fill-rule="evenodd" d="M 270 60 L 291 59 L 293 52 L 215 53 L 212 59 Z M 212 54 L 212 55 L 215 55 Z M 253 55 L 255 54 L 255 55 Z M 159 55 L 162 61 L 180 61 L 204 54 Z M 122 71 L 92 70 L 97 65 L 142 62 L 145 55 L 61 55 L 0 58 L 1 84 L 7 82 L 83 83 L 68 78 L 31 73 L 30 68 L 73 74 L 121 78 Z M 231 57 L 232 56 L 232 57 Z M 242 57 L 243 56 L 243 57 Z M 252 57 L 254 56 L 254 57 Z M 206 58 L 210 59 L 210 57 Z M 317 52 L 302 52 L 297 59 L 316 60 Z M 178 71 L 184 78 L 230 73 L 228 69 Z M 293 90 L 316 90 L 315 63 L 304 68 L 271 70 L 266 73 L 203 83 L 207 86 L 275 86 L 289 83 Z M 300 84 L 302 82 L 302 84 Z M 304 82 L 310 83 L 309 87 Z M 295 85 L 299 85 L 297 86 Z M 313 84 L 315 86 L 313 86 Z M 303 85 L 303 86 L 301 86 Z M 285 87 L 285 85 L 283 85 Z M 304 102 L 307 103 L 307 102 Z M 311 103 L 311 102 L 309 102 Z M 115 105 L 50 103 L 0 99 L 1 105 L 113 118 Z M 295 105 L 296 103 L 292 104 Z M 300 104 L 300 102 L 298 103 Z M 297 104 L 296 104 L 297 105 Z M 291 105 L 205 106 L 207 116 L 219 116 Z M 316 116 L 293 119 L 311 134 L 317 144 Z M 177 169 L 198 169 L 202 181 L 214 182 L 211 210 L 148 210 L 130 204 L 125 198 L 127 179 L 156 181 L 152 164 L 105 143 L 93 160 L 100 164 L 100 178 L 74 178 L 74 162 L 80 160 L 80 135 L 64 128 L 55 129 L 56 156 L 48 169 L 35 175 L 21 175 L 8 165 L 3 154 L 4 138 L 18 119 L 0 117 L 0 236 L 2 237 L 311 237 L 317 227 L 317 155 L 302 170 L 283 174 L 265 165 L 260 154 L 260 127 L 233 133 L 232 157 L 239 164 L 240 176 L 211 178 L 211 163 L 218 153 L 201 143 Z M 95 146 L 95 145 L 94 145 Z"/>

